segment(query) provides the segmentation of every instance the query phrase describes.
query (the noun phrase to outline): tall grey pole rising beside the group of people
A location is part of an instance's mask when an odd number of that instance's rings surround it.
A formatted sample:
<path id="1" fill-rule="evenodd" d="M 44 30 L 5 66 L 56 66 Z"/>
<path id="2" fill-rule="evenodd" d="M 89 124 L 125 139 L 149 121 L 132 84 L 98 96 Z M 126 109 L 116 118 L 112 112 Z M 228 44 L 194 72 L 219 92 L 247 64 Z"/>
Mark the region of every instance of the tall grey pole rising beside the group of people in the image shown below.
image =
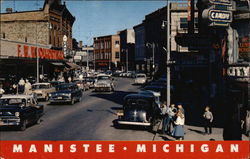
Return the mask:
<path id="1" fill-rule="evenodd" d="M 170 105 L 170 3 L 167 0 L 167 106 Z"/>

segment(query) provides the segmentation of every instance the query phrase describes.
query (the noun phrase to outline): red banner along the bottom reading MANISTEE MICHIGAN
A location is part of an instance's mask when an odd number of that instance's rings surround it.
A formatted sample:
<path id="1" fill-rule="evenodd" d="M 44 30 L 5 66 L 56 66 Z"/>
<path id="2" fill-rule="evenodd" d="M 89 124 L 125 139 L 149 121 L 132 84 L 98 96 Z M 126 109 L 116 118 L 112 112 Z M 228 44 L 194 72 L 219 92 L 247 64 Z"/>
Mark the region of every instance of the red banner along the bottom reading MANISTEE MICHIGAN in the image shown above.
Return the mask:
<path id="1" fill-rule="evenodd" d="M 0 141 L 1 159 L 248 159 L 249 141 Z"/>

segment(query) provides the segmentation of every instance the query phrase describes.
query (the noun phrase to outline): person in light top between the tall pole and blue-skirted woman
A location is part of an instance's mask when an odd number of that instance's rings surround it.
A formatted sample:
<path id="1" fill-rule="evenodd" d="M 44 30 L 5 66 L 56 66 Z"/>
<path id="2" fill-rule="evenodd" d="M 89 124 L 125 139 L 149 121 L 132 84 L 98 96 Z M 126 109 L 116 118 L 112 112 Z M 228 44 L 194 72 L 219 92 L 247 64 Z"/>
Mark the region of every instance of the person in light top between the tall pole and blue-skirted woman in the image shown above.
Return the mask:
<path id="1" fill-rule="evenodd" d="M 171 129 L 174 126 L 173 124 L 176 112 L 177 110 L 175 108 L 175 104 L 171 104 L 167 109 L 167 121 L 165 123 L 167 134 L 171 134 Z"/>

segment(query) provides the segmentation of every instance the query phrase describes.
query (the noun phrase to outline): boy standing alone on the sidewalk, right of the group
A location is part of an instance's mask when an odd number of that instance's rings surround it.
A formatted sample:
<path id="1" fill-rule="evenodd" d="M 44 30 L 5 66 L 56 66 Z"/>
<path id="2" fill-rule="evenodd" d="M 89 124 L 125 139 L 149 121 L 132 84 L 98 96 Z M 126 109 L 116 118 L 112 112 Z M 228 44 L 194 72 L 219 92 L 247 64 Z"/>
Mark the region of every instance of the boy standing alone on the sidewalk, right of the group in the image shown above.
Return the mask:
<path id="1" fill-rule="evenodd" d="M 205 122 L 204 122 L 205 133 L 204 134 L 212 134 L 213 114 L 210 111 L 209 106 L 206 106 L 205 112 L 203 114 L 203 118 L 205 120 Z M 208 131 L 208 129 L 209 129 L 209 131 Z"/>

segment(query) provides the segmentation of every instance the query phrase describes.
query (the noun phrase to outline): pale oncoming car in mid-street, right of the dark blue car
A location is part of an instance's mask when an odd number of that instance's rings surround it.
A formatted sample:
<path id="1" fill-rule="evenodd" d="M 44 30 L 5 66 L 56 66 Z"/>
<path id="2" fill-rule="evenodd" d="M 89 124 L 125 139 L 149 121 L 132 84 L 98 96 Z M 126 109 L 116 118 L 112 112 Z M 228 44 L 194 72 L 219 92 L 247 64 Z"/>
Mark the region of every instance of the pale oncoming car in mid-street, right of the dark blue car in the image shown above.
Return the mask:
<path id="1" fill-rule="evenodd" d="M 95 82 L 95 91 L 114 91 L 114 82 L 111 76 L 99 74 Z"/>

